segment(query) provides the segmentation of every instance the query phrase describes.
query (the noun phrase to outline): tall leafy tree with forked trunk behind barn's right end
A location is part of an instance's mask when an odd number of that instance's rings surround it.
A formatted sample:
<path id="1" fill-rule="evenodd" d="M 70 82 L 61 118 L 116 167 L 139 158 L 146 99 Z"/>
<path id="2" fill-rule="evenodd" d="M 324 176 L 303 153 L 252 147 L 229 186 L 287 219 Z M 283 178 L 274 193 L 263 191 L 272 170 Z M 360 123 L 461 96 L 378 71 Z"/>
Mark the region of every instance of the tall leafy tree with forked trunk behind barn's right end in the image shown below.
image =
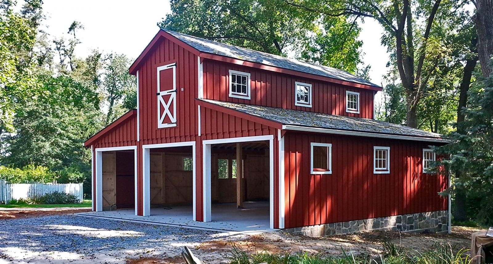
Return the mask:
<path id="1" fill-rule="evenodd" d="M 298 8 L 327 16 L 376 19 L 386 31 L 382 42 L 395 55 L 395 67 L 406 91 L 406 124 L 418 126 L 417 109 L 428 81 L 434 75 L 444 37 L 453 28 L 461 3 L 453 0 L 285 0 Z"/>

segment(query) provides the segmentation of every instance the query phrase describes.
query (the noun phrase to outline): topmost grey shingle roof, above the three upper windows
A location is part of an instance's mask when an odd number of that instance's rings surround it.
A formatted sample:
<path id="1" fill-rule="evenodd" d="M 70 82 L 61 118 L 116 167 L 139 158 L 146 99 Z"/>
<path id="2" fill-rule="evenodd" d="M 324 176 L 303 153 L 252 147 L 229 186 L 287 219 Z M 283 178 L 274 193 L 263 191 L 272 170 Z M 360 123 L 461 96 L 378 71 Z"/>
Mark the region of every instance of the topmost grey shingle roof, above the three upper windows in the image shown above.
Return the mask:
<path id="1" fill-rule="evenodd" d="M 334 78 L 352 83 L 370 85 L 380 88 L 381 86 L 371 83 L 363 78 L 352 75 L 347 71 L 336 68 L 308 63 L 296 59 L 288 59 L 282 56 L 268 54 L 264 52 L 249 50 L 233 45 L 228 45 L 208 39 L 190 36 L 171 30 L 163 29 L 177 39 L 185 42 L 200 52 L 211 53 L 220 56 L 226 56 L 234 59 L 242 59 L 251 62 L 257 62 L 265 65 L 280 67 L 284 69 L 295 70 L 304 73 L 315 74 L 323 77 Z"/>

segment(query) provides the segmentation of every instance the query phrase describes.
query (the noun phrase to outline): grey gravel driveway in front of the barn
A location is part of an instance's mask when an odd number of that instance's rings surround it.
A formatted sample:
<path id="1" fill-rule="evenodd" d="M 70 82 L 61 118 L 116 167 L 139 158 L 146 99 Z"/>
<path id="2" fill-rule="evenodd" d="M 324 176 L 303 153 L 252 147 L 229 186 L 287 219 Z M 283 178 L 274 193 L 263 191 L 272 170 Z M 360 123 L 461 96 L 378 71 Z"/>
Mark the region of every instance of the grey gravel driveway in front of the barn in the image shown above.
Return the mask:
<path id="1" fill-rule="evenodd" d="M 183 246 L 223 235 L 77 215 L 0 220 L 0 263 L 109 264 L 166 258 L 178 255 Z"/>

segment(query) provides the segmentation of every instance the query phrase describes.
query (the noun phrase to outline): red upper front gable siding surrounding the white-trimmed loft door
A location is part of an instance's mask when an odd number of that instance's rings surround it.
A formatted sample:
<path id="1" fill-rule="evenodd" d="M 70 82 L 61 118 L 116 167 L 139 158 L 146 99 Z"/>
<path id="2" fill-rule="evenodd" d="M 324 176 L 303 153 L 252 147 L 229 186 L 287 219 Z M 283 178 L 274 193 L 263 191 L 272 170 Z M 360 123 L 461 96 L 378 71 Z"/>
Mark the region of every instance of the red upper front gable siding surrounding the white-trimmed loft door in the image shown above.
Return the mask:
<path id="1" fill-rule="evenodd" d="M 193 141 L 198 133 L 197 56 L 162 38 L 139 68 L 139 104 L 143 144 Z M 157 67 L 176 62 L 176 127 L 157 127 Z M 183 90 L 182 90 L 183 88 Z"/>

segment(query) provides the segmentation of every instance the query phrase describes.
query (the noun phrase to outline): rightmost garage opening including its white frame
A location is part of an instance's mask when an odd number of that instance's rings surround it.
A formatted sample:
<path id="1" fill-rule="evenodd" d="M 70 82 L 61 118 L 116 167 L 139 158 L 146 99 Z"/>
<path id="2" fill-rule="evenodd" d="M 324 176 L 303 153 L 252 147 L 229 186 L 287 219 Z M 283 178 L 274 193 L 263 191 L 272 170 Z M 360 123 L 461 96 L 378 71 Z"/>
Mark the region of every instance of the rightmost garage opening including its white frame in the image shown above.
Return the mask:
<path id="1" fill-rule="evenodd" d="M 272 229 L 273 159 L 273 136 L 204 141 L 205 222 Z"/>

